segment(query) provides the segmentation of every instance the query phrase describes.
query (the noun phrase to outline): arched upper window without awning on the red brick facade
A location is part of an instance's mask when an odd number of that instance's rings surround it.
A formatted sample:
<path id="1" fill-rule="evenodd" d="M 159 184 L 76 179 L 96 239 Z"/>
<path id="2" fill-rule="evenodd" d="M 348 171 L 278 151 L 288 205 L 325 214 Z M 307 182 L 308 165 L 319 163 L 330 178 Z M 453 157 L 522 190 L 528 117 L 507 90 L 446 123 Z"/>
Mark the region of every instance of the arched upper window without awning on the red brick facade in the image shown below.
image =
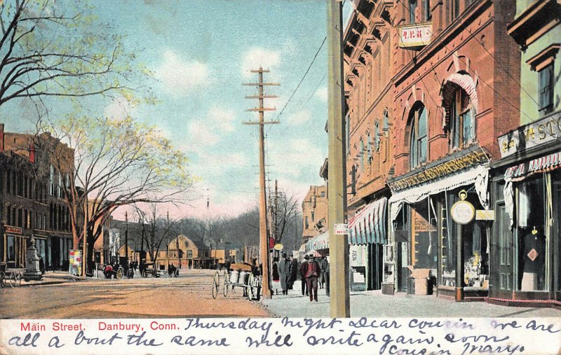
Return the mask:
<path id="1" fill-rule="evenodd" d="M 414 169 L 426 162 L 427 128 L 426 109 L 423 104 L 417 104 L 410 113 L 410 152 L 409 167 Z"/>

